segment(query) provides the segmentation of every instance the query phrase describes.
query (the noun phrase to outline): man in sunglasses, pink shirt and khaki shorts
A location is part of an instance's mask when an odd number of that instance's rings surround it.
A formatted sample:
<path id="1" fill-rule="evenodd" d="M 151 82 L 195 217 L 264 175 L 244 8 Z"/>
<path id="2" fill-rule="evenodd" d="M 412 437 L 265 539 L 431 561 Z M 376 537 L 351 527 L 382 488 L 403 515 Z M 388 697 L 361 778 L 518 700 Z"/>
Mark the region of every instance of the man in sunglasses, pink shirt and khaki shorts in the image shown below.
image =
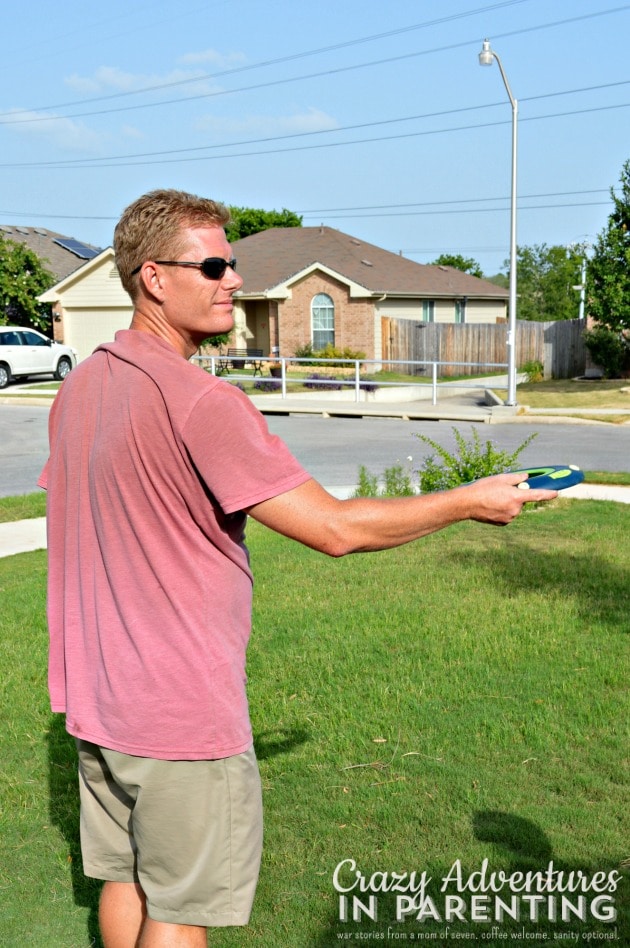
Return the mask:
<path id="1" fill-rule="evenodd" d="M 201 946 L 249 918 L 261 852 L 245 696 L 247 515 L 330 556 L 464 519 L 508 523 L 500 475 L 433 496 L 337 500 L 249 399 L 188 359 L 233 326 L 225 208 L 151 192 L 116 227 L 131 328 L 71 373 L 50 418 L 49 687 L 79 752 L 84 870 L 106 948 Z"/>

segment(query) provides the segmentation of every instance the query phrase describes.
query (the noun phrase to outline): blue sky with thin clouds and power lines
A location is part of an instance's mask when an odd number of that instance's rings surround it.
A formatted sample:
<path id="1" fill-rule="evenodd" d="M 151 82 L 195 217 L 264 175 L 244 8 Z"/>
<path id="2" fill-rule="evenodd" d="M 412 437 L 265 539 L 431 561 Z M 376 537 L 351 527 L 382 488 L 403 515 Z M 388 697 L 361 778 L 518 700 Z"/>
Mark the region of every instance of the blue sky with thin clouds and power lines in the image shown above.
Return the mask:
<path id="1" fill-rule="evenodd" d="M 11 4 L 0 223 L 99 246 L 155 187 L 283 207 L 419 263 L 592 241 L 630 158 L 630 3 Z"/>

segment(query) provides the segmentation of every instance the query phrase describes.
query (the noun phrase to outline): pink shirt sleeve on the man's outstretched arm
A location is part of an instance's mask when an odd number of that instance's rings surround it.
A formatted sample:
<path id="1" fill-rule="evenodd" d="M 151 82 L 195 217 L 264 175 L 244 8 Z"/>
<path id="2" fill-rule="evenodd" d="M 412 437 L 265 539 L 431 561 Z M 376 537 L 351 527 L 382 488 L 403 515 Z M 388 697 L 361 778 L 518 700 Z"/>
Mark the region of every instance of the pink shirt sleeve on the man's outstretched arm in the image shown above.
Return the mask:
<path id="1" fill-rule="evenodd" d="M 184 427 L 199 475 L 227 514 L 293 490 L 311 475 L 249 398 L 232 386 L 204 394 Z"/>

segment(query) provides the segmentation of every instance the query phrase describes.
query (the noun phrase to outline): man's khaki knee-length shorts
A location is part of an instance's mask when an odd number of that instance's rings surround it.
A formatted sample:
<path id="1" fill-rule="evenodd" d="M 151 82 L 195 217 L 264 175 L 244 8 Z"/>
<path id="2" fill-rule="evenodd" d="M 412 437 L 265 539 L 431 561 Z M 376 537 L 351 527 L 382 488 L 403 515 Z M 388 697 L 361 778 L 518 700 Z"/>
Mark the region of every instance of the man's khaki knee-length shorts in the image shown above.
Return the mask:
<path id="1" fill-rule="evenodd" d="M 254 750 L 171 761 L 77 748 L 85 874 L 139 883 L 158 922 L 246 925 L 262 851 Z"/>

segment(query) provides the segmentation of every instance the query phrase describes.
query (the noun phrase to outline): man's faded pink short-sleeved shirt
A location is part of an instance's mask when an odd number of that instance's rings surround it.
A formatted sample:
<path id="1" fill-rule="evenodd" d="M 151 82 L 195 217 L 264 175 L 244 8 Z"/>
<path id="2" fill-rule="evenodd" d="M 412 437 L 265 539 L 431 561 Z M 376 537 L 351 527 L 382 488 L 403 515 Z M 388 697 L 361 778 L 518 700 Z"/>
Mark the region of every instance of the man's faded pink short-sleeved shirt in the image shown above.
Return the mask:
<path id="1" fill-rule="evenodd" d="M 309 475 L 247 396 L 126 330 L 50 415 L 49 689 L 68 731 L 138 756 L 251 745 L 244 508 Z"/>

